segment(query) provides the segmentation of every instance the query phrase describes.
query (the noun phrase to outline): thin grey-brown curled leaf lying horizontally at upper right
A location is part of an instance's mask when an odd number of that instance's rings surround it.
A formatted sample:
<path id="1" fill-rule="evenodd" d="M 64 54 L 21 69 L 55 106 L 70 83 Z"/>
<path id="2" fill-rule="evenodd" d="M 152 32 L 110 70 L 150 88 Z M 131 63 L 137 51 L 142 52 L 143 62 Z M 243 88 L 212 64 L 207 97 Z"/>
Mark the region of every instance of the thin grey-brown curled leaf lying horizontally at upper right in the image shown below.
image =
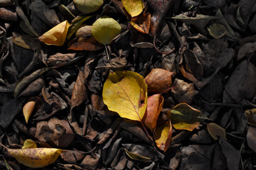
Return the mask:
<path id="1" fill-rule="evenodd" d="M 172 19 L 183 21 L 186 25 L 193 25 L 198 26 L 200 28 L 205 28 L 209 21 L 218 19 L 218 16 L 205 16 L 202 14 L 196 15 L 196 17 L 188 17 L 185 16 L 183 13 L 179 14 L 178 16 L 171 17 Z"/>

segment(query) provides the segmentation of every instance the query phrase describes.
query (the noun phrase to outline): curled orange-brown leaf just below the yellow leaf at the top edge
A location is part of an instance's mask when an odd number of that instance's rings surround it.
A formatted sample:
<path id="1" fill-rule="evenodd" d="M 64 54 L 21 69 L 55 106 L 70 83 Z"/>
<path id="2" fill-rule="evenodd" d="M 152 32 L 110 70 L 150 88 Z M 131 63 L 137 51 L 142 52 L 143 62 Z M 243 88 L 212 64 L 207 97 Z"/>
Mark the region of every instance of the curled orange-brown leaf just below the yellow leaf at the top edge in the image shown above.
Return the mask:
<path id="1" fill-rule="evenodd" d="M 136 18 L 132 18 L 131 25 L 139 32 L 149 33 L 151 23 L 151 13 L 144 13 Z"/>

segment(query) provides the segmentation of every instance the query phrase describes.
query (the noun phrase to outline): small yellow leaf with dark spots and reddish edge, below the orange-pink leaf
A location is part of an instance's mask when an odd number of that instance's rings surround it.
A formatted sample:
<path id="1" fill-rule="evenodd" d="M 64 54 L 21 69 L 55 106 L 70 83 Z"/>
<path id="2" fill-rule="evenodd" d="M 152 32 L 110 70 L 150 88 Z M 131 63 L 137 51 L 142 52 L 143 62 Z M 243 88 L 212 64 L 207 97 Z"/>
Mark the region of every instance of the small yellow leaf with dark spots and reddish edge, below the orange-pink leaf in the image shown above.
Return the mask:
<path id="1" fill-rule="evenodd" d="M 154 140 L 156 142 L 156 146 L 164 152 L 167 151 L 169 146 L 171 145 L 171 136 L 172 136 L 172 127 L 171 120 L 161 125 L 159 128 L 156 128 L 154 132 Z"/>

